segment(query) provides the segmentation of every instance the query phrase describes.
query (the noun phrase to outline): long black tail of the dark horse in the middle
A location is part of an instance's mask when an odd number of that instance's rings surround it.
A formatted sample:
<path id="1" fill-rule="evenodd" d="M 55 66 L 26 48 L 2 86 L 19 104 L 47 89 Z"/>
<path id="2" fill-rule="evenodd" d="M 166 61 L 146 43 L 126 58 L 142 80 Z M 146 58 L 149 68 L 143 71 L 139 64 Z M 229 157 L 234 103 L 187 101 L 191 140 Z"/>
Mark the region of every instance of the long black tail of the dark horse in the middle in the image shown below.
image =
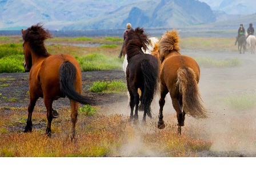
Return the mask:
<path id="1" fill-rule="evenodd" d="M 150 106 L 157 90 L 158 69 L 149 62 L 149 59 L 143 59 L 141 63 L 141 70 L 144 77 L 144 91 L 142 93 L 139 110 L 145 111 L 151 118 Z"/>

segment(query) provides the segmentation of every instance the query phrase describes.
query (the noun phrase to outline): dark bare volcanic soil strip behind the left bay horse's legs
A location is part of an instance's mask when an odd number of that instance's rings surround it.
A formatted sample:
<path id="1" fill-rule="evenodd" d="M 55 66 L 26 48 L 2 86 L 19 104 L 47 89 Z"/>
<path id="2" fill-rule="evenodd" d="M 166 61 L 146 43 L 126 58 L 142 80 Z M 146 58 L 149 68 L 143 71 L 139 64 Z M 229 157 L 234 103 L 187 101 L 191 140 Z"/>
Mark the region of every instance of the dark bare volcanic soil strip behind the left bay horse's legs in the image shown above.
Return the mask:
<path id="1" fill-rule="evenodd" d="M 87 71 L 82 72 L 82 94 L 90 95 L 97 100 L 98 106 L 107 106 L 116 101 L 127 100 L 127 96 L 115 93 L 91 93 L 88 89 L 97 81 L 123 81 L 126 83 L 125 73 L 115 71 Z M 6 85 L 6 86 L 5 86 Z M 2 107 L 27 107 L 29 105 L 29 73 L 2 73 L 0 74 L 0 103 Z M 14 101 L 15 100 L 15 101 Z M 39 98 L 37 105 L 44 106 L 43 99 Z M 68 98 L 54 101 L 54 109 L 70 106 Z"/>

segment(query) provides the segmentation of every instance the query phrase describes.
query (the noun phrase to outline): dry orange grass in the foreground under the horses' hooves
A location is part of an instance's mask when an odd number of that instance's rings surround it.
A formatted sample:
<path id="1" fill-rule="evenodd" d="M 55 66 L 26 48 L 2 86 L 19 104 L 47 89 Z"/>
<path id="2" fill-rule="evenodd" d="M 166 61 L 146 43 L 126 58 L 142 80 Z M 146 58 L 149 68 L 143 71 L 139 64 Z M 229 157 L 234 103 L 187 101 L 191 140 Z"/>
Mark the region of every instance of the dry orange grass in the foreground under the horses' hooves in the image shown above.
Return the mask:
<path id="1" fill-rule="evenodd" d="M 143 128 L 129 123 L 125 115 L 98 115 L 86 117 L 79 113 L 77 137 L 71 141 L 70 111 L 60 110 L 60 117 L 53 122 L 53 136 L 46 137 L 46 118 L 43 111 L 33 114 L 34 125 L 42 122 L 42 128 L 33 129 L 32 133 L 22 133 L 23 110 L 0 111 L 0 157 L 197 157 L 197 150 L 208 150 L 211 142 L 177 135 L 175 118 L 169 117 L 165 130 L 158 130 L 154 123 Z M 11 124 L 9 124 L 12 122 Z M 126 153 L 123 146 L 133 143 L 139 137 L 141 148 L 138 154 Z M 136 143 L 133 145 L 136 145 Z M 136 146 L 138 147 L 138 146 Z M 155 155 L 157 154 L 157 155 Z"/>

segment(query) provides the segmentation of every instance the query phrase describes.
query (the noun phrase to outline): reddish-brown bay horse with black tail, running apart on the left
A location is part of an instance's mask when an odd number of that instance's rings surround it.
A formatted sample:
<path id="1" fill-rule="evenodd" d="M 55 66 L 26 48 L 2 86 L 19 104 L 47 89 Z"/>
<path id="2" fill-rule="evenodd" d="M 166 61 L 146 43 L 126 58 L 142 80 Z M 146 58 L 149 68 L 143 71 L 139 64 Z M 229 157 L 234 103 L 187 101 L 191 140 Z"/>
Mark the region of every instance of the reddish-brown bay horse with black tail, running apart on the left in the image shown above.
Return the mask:
<path id="1" fill-rule="evenodd" d="M 45 49 L 44 42 L 51 38 L 49 31 L 42 27 L 41 23 L 22 30 L 23 52 L 25 62 L 23 65 L 29 73 L 29 115 L 24 132 L 32 131 L 32 113 L 39 97 L 43 98 L 47 110 L 46 134 L 51 135 L 51 122 L 55 110 L 53 101 L 59 98 L 70 99 L 71 122 L 73 137 L 75 136 L 75 124 L 78 115 L 78 102 L 93 104 L 93 100 L 81 95 L 82 77 L 77 60 L 68 54 L 51 55 Z"/>

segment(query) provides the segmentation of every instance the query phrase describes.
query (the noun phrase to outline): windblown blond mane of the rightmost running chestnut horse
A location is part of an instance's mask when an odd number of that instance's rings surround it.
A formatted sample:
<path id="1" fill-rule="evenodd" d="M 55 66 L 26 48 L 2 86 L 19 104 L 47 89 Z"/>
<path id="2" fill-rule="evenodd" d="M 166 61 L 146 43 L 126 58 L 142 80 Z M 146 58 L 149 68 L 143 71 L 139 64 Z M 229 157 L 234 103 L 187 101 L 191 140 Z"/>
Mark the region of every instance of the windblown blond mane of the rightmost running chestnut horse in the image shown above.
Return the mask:
<path id="1" fill-rule="evenodd" d="M 178 51 L 181 50 L 179 47 L 179 35 L 178 31 L 173 29 L 171 31 L 167 30 L 167 32 L 161 37 L 158 43 L 159 52 L 166 55 L 170 53 L 170 51 Z"/>

